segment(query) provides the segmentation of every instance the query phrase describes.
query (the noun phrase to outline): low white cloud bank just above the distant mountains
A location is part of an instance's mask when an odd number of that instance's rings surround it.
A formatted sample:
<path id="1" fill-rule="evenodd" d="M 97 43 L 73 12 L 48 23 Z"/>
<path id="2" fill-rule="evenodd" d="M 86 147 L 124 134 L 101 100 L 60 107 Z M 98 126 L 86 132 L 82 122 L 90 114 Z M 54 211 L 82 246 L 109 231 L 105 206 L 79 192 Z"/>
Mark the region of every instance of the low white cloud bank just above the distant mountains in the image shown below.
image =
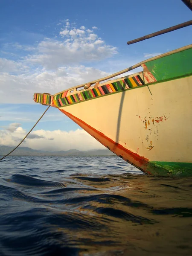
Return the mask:
<path id="1" fill-rule="evenodd" d="M 11 124 L 14 126 L 14 124 Z M 22 127 L 17 127 L 15 131 L 8 129 L 0 130 L 0 145 L 16 146 L 26 135 Z M 23 146 L 49 151 L 60 151 L 69 149 L 91 150 L 104 149 L 105 147 L 91 137 L 86 131 L 77 129 L 76 131 L 32 131 L 26 138 Z"/>

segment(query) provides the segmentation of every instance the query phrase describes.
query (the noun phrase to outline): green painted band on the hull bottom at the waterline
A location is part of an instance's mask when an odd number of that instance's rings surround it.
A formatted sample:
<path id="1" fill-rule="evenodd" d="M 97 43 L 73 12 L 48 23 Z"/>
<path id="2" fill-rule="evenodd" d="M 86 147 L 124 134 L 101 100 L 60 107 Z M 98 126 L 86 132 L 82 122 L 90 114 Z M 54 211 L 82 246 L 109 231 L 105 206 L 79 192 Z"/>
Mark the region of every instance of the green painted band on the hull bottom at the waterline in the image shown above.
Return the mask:
<path id="1" fill-rule="evenodd" d="M 151 161 L 147 171 L 160 176 L 192 176 L 192 163 Z"/>

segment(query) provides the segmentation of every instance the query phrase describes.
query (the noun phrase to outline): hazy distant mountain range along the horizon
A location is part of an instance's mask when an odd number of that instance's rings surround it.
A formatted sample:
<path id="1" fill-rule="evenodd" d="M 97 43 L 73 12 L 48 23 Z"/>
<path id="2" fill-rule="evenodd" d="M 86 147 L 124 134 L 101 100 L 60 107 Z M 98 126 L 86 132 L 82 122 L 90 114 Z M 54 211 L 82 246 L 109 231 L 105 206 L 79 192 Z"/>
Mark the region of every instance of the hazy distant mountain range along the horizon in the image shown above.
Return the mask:
<path id="1" fill-rule="evenodd" d="M 0 155 L 4 156 L 13 150 L 13 147 L 0 146 Z M 12 154 L 12 156 L 113 156 L 109 149 L 98 149 L 79 151 L 77 149 L 70 149 L 67 151 L 42 151 L 35 150 L 27 147 L 18 147 Z"/>

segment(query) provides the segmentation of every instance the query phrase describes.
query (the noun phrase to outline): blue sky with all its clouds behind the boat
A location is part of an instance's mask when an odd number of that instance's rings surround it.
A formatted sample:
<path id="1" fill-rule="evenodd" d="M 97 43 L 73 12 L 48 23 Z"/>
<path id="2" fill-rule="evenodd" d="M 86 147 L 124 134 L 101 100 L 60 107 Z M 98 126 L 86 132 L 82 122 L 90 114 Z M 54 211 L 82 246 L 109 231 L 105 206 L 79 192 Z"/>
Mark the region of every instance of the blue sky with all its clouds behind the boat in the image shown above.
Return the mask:
<path id="1" fill-rule="evenodd" d="M 15 146 L 58 93 L 192 42 L 192 26 L 137 44 L 127 41 L 192 19 L 181 0 L 1 0 L 0 145 Z M 49 108 L 22 144 L 39 150 L 102 149 Z"/>

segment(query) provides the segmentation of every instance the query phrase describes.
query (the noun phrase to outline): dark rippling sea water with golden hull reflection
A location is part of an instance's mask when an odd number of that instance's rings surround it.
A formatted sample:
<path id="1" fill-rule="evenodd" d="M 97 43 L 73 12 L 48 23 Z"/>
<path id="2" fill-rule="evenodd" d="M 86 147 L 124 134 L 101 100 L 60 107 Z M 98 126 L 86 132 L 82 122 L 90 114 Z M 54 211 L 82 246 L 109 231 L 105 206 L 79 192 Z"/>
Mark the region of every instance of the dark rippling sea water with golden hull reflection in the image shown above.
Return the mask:
<path id="1" fill-rule="evenodd" d="M 192 255 L 192 178 L 119 157 L 0 161 L 0 256 Z"/>

